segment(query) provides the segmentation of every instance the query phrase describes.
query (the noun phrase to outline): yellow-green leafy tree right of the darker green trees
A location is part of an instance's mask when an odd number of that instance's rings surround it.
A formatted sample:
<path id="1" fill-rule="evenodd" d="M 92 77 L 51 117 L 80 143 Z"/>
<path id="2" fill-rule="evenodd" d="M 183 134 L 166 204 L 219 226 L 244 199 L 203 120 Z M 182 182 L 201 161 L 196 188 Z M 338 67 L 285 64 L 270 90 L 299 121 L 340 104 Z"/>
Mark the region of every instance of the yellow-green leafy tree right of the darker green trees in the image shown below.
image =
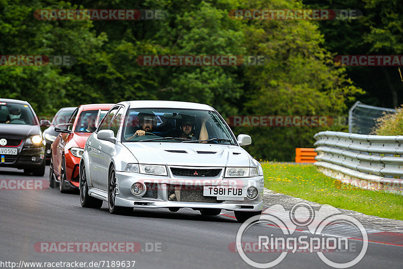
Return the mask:
<path id="1" fill-rule="evenodd" d="M 298 2 L 271 2 L 273 9 L 303 8 Z M 263 9 L 265 5 L 255 1 L 253 6 Z M 248 53 L 265 55 L 269 60 L 263 67 L 245 69 L 249 99 L 242 115 L 341 116 L 347 110 L 346 102 L 363 93 L 346 78 L 344 68 L 334 67 L 330 53 L 320 46 L 323 36 L 315 23 L 254 21 L 244 31 Z M 322 130 L 323 127 L 251 127 L 239 132 L 253 134 L 253 156 L 291 160 L 296 147 L 312 147 L 313 135 Z"/>

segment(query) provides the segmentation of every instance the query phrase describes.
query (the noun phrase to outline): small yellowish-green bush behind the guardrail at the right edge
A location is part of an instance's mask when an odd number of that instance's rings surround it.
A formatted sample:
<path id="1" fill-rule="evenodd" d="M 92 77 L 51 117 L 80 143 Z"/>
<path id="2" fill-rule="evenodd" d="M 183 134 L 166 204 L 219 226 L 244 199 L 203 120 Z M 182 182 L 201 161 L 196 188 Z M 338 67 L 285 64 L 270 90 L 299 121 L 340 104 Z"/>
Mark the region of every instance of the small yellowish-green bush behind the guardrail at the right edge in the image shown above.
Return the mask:
<path id="1" fill-rule="evenodd" d="M 376 135 L 402 135 L 403 105 L 397 109 L 397 113 L 388 113 L 376 119 L 375 130 L 372 133 Z"/>

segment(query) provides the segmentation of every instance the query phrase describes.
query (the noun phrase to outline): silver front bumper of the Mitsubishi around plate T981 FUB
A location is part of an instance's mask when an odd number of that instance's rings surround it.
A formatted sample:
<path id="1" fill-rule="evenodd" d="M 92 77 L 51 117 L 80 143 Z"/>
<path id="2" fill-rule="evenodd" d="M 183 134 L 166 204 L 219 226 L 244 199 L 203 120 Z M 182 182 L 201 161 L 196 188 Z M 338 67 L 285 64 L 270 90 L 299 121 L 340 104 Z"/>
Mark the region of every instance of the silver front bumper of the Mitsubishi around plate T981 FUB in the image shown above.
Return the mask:
<path id="1" fill-rule="evenodd" d="M 117 206 L 143 208 L 189 207 L 195 210 L 218 208 L 237 211 L 259 211 L 263 207 L 263 176 L 244 179 L 223 179 L 220 177 L 213 179 L 203 177 L 180 177 L 172 179 L 116 171 L 116 179 L 119 191 L 115 200 Z M 131 186 L 136 182 L 143 182 L 147 187 L 148 191 L 142 194 L 142 196 L 136 196 L 130 190 Z M 254 199 L 245 197 L 242 200 L 231 200 L 231 198 L 217 200 L 216 197 L 203 195 L 204 186 L 222 185 L 246 188 L 254 186 L 258 190 L 258 195 Z M 152 187 L 149 189 L 149 186 Z M 175 192 L 172 186 L 180 187 Z M 182 198 L 183 201 L 181 199 L 179 199 L 180 201 L 172 200 L 172 193 L 178 194 L 178 192 L 179 197 L 180 195 L 184 197 Z"/>

